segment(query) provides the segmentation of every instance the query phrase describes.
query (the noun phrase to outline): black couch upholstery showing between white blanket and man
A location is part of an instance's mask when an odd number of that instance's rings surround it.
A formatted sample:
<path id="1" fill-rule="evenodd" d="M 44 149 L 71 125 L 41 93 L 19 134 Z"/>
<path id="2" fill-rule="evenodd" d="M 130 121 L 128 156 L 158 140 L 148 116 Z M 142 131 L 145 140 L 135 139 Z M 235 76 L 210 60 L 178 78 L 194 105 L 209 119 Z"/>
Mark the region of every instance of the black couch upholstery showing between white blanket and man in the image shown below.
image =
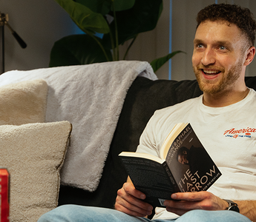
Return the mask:
<path id="1" fill-rule="evenodd" d="M 256 90 L 256 77 L 246 77 L 246 85 Z M 202 92 L 197 81 L 151 81 L 148 78 L 138 77 L 125 98 L 98 188 L 95 192 L 86 192 L 70 186 L 61 186 L 59 205 L 74 203 L 113 208 L 116 191 L 122 187 L 127 178 L 118 154 L 137 149 L 142 130 L 155 110 L 200 94 Z"/>

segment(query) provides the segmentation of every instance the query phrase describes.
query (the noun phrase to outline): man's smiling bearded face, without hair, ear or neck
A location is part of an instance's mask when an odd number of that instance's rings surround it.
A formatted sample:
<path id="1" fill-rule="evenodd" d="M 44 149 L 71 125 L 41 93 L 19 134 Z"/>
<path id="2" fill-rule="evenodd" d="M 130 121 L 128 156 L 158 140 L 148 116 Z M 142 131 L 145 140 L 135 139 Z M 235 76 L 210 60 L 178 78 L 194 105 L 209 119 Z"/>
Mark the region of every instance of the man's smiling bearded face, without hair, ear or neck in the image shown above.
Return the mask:
<path id="1" fill-rule="evenodd" d="M 192 64 L 200 89 L 210 94 L 243 82 L 246 40 L 234 24 L 204 21 L 197 27 Z"/>

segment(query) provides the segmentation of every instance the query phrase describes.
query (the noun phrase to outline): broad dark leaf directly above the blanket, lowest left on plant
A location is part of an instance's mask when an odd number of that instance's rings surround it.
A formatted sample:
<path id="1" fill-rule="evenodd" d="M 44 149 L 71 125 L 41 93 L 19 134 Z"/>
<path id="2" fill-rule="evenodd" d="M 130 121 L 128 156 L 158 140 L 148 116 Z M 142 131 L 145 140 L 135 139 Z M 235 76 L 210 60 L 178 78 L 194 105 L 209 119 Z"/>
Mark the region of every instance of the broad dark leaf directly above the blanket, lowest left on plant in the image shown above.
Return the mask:
<path id="1" fill-rule="evenodd" d="M 102 41 L 100 38 L 97 39 L 99 42 Z M 111 59 L 111 51 L 106 50 L 106 53 Z M 108 60 L 99 44 L 91 36 L 73 35 L 55 42 L 50 52 L 49 67 L 92 64 L 103 61 Z"/>

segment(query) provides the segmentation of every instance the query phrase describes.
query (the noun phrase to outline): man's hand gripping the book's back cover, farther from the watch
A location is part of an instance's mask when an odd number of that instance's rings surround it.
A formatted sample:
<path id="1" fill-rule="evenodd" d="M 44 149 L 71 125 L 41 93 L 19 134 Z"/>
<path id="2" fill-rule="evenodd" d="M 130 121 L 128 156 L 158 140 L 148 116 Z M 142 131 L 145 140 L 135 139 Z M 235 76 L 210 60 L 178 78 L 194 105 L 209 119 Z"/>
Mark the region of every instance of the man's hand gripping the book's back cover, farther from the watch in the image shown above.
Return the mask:
<path id="1" fill-rule="evenodd" d="M 134 184 L 125 183 L 122 189 L 117 191 L 115 209 L 137 217 L 151 215 L 153 206 L 145 203 L 144 199 L 145 194 L 135 189 Z"/>

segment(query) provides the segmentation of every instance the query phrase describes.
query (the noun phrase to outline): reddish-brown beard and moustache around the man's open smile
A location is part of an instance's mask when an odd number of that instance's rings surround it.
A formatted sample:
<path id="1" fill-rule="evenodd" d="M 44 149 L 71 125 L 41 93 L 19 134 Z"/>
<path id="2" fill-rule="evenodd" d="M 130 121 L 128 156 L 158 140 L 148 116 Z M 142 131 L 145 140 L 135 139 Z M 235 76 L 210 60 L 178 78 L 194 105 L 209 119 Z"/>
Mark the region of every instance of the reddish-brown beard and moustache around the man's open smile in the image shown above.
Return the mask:
<path id="1" fill-rule="evenodd" d="M 202 69 L 206 68 L 212 70 L 220 70 L 220 72 L 222 73 L 222 78 L 220 78 L 220 80 L 207 80 L 203 78 L 200 72 L 202 72 Z M 242 61 L 238 61 L 236 65 L 232 66 L 230 70 L 227 71 L 221 67 L 204 66 L 203 64 L 197 67 L 193 67 L 193 70 L 194 74 L 196 75 L 200 90 L 209 94 L 218 94 L 220 92 L 228 90 L 229 87 L 232 87 L 232 85 L 234 85 L 234 83 L 240 77 L 242 68 Z"/>

